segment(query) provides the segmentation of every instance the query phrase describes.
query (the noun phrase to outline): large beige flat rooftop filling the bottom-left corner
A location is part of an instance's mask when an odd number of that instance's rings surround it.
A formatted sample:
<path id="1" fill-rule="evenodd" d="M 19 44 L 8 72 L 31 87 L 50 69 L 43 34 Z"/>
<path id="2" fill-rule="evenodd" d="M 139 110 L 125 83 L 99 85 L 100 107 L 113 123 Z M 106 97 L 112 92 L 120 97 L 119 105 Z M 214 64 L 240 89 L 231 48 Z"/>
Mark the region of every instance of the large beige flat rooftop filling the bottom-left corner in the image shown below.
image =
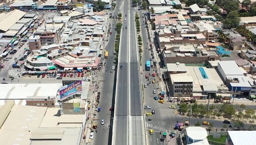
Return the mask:
<path id="1" fill-rule="evenodd" d="M 0 144 L 30 145 L 31 132 L 40 126 L 46 109 L 47 107 L 14 105 L 0 129 Z"/>

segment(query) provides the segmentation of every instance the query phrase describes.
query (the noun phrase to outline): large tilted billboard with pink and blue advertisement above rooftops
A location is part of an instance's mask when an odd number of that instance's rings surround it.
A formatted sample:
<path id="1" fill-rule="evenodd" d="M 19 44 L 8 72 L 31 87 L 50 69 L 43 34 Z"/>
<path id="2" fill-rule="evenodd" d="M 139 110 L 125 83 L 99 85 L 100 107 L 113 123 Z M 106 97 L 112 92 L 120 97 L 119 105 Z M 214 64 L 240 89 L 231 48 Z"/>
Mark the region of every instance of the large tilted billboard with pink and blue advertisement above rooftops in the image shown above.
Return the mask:
<path id="1" fill-rule="evenodd" d="M 82 91 L 82 81 L 76 81 L 60 89 L 60 99 L 67 98 Z"/>

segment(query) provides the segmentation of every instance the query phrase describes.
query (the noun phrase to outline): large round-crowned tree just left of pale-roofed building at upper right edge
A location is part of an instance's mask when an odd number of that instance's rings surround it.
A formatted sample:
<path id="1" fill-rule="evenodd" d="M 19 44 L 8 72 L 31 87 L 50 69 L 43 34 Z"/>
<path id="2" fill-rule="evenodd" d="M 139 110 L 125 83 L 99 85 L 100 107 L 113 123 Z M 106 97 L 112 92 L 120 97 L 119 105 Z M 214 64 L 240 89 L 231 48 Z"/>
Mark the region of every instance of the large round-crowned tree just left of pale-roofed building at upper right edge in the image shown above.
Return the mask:
<path id="1" fill-rule="evenodd" d="M 223 20 L 223 24 L 227 28 L 235 28 L 240 22 L 239 14 L 237 11 L 230 11 L 226 19 Z"/>

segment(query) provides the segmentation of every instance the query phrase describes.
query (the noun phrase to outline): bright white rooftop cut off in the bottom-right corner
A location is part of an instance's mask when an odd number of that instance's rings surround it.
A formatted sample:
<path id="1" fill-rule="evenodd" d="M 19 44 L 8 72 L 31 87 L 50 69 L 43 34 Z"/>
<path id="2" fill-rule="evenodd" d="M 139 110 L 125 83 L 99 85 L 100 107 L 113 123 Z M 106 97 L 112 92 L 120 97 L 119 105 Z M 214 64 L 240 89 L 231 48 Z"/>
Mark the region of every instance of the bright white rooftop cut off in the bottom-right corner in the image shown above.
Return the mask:
<path id="1" fill-rule="evenodd" d="M 256 131 L 228 131 L 233 145 L 254 145 Z"/>

